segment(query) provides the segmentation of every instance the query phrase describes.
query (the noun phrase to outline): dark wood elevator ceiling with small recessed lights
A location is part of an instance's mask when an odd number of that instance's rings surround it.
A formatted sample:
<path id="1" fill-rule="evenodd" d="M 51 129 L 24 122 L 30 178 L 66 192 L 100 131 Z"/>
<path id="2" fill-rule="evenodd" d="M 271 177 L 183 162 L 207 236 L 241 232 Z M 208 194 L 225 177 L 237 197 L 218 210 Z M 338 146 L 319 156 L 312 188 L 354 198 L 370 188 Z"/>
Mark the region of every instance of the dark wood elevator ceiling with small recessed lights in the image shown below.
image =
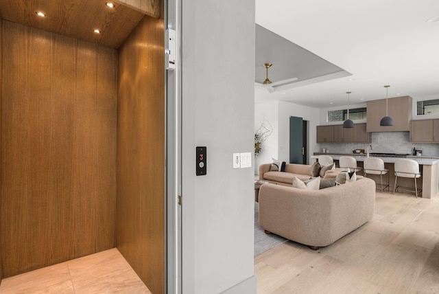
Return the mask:
<path id="1" fill-rule="evenodd" d="M 145 14 L 108 0 L 1 0 L 1 18 L 117 49 Z M 45 17 L 36 15 L 44 12 Z M 100 30 L 96 34 L 93 30 Z"/>

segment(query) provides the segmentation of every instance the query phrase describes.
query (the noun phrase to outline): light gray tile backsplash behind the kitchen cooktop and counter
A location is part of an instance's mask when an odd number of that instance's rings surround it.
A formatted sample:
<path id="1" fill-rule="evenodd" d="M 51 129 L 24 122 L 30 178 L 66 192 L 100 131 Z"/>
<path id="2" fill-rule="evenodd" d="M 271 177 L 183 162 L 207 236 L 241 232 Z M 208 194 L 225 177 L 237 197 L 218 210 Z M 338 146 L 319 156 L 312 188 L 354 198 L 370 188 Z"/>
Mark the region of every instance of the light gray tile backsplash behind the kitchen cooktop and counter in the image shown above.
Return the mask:
<path id="1" fill-rule="evenodd" d="M 413 148 L 423 150 L 425 156 L 439 156 L 439 143 L 412 143 L 410 132 L 382 132 L 372 133 L 372 151 L 370 152 L 392 152 L 409 153 L 412 155 Z M 367 143 L 318 143 L 317 150 L 322 152 L 326 148 L 330 153 L 352 153 L 355 149 L 368 147 Z"/>

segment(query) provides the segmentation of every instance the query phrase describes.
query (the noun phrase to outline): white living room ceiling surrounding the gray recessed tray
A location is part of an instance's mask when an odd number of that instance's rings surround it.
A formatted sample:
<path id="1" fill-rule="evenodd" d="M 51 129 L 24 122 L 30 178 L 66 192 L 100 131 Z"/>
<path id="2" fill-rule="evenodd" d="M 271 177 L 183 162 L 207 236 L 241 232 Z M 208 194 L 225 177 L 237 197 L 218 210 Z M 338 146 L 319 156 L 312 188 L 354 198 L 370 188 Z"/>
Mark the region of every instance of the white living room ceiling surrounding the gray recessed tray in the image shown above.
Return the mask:
<path id="1" fill-rule="evenodd" d="M 351 91 L 351 103 L 361 104 L 385 98 L 385 84 L 389 97 L 439 98 L 439 21 L 427 21 L 438 15 L 436 0 L 256 0 L 257 24 L 352 74 L 274 93 L 256 89 L 256 102 L 327 108 L 346 105 Z"/>

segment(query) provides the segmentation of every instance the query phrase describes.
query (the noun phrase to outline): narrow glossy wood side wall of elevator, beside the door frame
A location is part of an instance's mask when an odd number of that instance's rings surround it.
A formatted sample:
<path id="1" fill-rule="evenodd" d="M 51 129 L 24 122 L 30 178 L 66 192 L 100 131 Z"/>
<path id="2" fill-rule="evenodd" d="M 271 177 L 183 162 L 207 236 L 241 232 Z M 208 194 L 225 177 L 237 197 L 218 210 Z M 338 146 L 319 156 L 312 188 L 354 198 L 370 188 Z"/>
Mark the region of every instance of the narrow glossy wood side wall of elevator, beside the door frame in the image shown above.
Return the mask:
<path id="1" fill-rule="evenodd" d="M 117 248 L 165 293 L 164 23 L 150 16 L 119 48 Z"/>

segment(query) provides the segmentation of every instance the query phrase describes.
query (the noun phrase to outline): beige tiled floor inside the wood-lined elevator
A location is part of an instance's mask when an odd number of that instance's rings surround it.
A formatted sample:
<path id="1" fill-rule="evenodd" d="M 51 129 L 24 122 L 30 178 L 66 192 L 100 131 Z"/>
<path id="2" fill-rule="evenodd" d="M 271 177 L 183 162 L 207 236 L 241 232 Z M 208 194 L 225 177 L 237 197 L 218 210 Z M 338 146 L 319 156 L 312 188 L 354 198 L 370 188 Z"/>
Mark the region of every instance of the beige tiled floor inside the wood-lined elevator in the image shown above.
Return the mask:
<path id="1" fill-rule="evenodd" d="M 151 293 L 115 248 L 5 278 L 0 293 Z"/>

